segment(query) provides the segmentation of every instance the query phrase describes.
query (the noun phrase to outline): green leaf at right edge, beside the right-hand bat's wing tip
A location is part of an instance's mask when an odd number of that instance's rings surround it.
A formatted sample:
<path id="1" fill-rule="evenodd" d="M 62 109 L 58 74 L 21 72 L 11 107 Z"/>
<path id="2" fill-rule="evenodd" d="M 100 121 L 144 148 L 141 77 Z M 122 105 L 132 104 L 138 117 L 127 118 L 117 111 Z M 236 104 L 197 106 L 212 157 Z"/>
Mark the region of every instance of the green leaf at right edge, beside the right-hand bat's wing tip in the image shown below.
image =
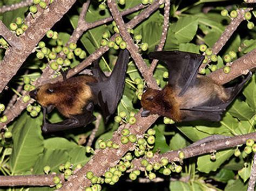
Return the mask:
<path id="1" fill-rule="evenodd" d="M 250 83 L 245 87 L 244 91 L 242 91 L 242 94 L 246 97 L 246 103 L 250 105 L 251 109 L 254 111 L 254 114 L 256 114 L 256 77 L 255 74 L 252 75 L 252 79 L 250 80 Z"/>

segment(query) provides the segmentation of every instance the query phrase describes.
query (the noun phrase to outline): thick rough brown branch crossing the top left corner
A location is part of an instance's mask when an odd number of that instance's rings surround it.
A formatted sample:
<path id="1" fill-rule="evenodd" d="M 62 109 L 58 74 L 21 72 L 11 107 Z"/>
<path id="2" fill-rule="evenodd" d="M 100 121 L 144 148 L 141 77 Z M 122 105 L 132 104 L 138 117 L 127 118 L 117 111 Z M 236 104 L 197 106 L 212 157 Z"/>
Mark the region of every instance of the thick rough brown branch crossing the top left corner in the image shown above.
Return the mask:
<path id="1" fill-rule="evenodd" d="M 22 50 L 12 47 L 6 52 L 4 60 L 0 65 L 0 92 L 16 74 L 19 67 L 21 67 L 22 63 L 28 58 L 39 40 L 41 40 L 45 33 L 63 17 L 75 2 L 75 0 L 54 1 L 49 8 L 37 18 L 37 22 L 31 24 L 28 30 L 19 37 L 23 47 Z M 45 22 L 45 20 L 47 20 L 47 22 Z"/>

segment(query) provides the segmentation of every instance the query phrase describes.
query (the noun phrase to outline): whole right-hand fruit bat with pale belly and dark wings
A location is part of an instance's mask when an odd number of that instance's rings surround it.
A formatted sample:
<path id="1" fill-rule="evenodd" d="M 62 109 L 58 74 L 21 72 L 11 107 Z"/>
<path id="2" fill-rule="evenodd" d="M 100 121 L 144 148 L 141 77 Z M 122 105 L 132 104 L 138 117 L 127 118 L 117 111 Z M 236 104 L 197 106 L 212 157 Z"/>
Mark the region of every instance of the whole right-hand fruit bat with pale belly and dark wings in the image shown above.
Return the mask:
<path id="1" fill-rule="evenodd" d="M 144 90 L 142 117 L 158 114 L 176 122 L 220 121 L 227 106 L 252 75 L 249 72 L 240 83 L 224 88 L 209 77 L 198 75 L 203 55 L 162 51 L 151 52 L 149 58 L 164 61 L 168 67 L 169 79 L 163 90 Z"/>

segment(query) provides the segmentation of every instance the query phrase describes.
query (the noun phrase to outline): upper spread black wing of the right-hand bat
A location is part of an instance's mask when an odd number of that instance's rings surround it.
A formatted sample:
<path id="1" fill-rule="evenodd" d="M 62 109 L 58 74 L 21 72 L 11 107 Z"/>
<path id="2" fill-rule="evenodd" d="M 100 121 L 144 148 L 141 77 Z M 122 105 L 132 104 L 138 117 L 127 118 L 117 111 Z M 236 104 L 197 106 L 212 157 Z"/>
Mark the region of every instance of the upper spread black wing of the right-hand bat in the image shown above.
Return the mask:
<path id="1" fill-rule="evenodd" d="M 196 82 L 199 66 L 204 60 L 203 55 L 180 51 L 151 52 L 149 58 L 166 63 L 169 70 L 168 82 L 173 88 L 181 89 L 179 96 Z"/>

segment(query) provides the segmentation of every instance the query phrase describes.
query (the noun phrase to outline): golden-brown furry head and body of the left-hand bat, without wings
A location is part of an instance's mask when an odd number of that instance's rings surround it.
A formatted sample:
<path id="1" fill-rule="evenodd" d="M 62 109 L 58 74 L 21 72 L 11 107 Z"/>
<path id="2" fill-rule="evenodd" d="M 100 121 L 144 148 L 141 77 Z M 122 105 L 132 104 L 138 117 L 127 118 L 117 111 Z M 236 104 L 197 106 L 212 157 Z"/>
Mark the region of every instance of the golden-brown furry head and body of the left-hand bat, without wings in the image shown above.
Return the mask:
<path id="1" fill-rule="evenodd" d="M 92 76 L 81 75 L 63 82 L 45 84 L 38 87 L 36 100 L 43 107 L 54 105 L 65 117 L 82 114 L 88 101 L 93 100 L 91 88 L 86 84 L 88 82 L 97 80 Z"/>

